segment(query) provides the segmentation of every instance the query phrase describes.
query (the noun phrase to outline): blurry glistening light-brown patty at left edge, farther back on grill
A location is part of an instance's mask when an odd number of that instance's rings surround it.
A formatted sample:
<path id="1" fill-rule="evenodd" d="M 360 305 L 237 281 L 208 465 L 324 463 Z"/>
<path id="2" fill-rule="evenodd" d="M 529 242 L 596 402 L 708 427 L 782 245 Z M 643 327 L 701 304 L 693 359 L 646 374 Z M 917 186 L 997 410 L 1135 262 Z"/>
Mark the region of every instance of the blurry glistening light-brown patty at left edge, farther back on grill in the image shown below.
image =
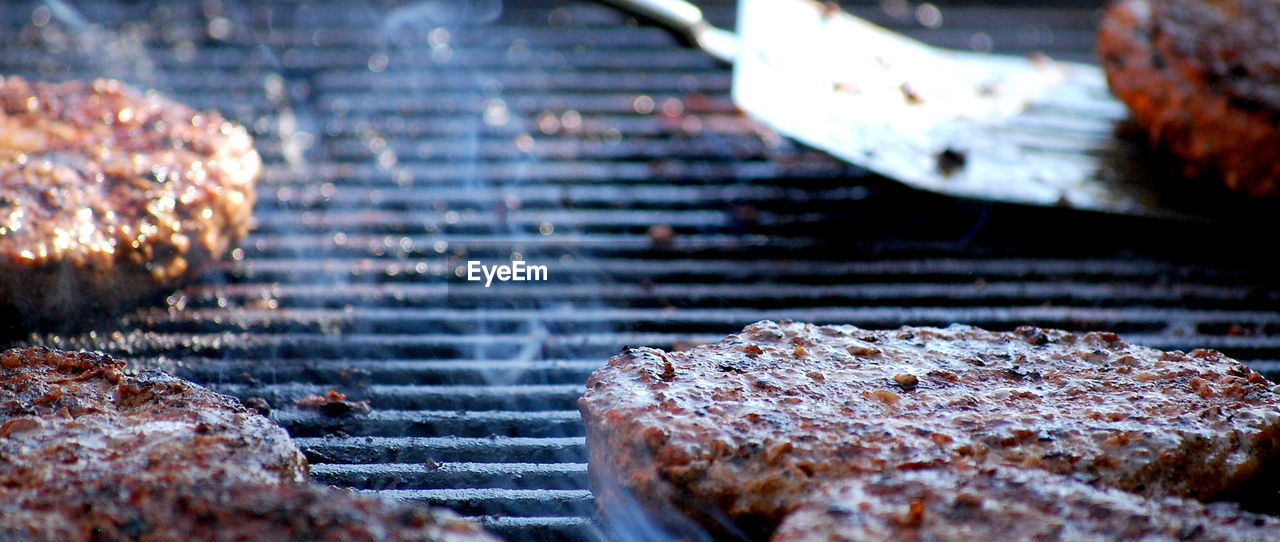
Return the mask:
<path id="1" fill-rule="evenodd" d="M 218 113 L 0 77 L 0 305 L 49 325 L 173 290 L 244 237 L 260 169 Z"/>

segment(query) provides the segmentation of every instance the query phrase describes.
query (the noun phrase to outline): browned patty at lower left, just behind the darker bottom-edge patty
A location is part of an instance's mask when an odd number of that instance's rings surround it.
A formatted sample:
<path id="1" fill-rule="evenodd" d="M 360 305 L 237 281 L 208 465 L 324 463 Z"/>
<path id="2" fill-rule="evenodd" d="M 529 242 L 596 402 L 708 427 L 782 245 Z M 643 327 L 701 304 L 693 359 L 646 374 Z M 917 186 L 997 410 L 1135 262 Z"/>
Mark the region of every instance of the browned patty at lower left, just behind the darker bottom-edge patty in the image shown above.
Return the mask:
<path id="1" fill-rule="evenodd" d="M 274 422 L 187 381 L 123 369 L 102 354 L 0 354 L 0 497 L 110 477 L 306 480 L 306 459 Z"/>

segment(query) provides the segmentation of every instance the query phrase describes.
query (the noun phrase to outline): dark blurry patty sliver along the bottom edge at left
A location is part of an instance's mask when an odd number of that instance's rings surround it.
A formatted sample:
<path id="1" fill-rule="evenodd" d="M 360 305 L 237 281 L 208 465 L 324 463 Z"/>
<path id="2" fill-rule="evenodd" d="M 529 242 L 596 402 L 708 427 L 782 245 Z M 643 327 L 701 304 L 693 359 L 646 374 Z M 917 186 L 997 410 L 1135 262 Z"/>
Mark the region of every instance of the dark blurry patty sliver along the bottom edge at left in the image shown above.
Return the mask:
<path id="1" fill-rule="evenodd" d="M 96 483 L 0 502 L 0 542 L 497 542 L 444 510 L 314 486 Z"/>

